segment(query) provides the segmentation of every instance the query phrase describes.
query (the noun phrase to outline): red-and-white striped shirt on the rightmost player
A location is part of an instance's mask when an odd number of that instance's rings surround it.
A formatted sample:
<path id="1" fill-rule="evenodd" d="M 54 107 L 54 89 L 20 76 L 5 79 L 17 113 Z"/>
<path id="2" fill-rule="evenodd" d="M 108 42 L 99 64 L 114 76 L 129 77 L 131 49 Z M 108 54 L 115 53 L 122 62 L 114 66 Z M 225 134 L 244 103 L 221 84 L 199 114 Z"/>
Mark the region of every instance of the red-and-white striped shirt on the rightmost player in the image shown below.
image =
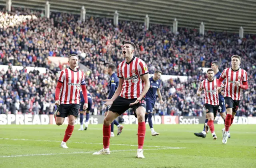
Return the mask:
<path id="1" fill-rule="evenodd" d="M 233 71 L 232 68 L 226 68 L 221 74 L 222 78 L 226 78 L 224 97 L 230 97 L 233 100 L 240 100 L 241 87 L 236 87 L 235 82 L 239 81 L 240 85 L 248 80 L 247 72 L 239 68 Z"/>

